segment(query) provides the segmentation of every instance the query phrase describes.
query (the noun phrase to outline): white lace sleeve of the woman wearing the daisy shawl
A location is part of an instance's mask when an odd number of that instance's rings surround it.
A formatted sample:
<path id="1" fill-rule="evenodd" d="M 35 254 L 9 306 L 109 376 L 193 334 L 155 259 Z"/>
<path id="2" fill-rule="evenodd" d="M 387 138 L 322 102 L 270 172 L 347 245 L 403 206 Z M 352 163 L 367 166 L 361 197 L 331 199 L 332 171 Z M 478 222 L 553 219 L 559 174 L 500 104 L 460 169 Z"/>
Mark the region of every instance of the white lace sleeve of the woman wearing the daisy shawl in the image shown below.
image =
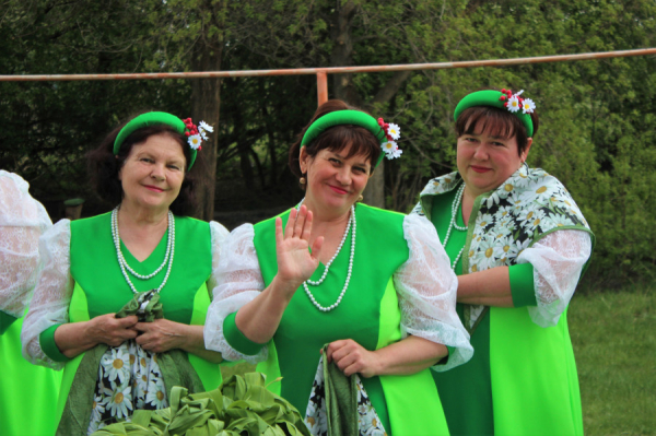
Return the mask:
<path id="1" fill-rule="evenodd" d="M 540 327 L 558 323 L 591 250 L 587 232 L 565 229 L 544 236 L 517 257 L 517 263 L 529 262 L 534 267 L 538 305 L 528 307 L 528 313 L 535 323 Z"/>

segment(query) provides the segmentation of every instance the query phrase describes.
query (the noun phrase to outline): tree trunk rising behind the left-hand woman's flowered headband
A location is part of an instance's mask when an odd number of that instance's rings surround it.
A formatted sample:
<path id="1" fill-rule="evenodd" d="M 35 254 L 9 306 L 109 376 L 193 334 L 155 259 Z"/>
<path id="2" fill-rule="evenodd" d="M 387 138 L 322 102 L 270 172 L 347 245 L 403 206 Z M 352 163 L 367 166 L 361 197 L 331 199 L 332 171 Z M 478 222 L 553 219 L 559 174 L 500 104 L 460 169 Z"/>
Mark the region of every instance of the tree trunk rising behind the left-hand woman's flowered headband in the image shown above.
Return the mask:
<path id="1" fill-rule="evenodd" d="M 209 12 L 203 16 L 209 16 L 210 21 L 203 23 L 201 35 L 194 46 L 191 58 L 194 71 L 221 70 L 225 8 L 225 0 L 219 2 L 206 0 L 202 2 L 202 12 Z M 199 158 L 207 162 L 208 182 L 199 187 L 199 205 L 195 216 L 204 221 L 214 219 L 220 94 L 220 79 L 197 79 L 191 82 L 191 116 L 194 122 L 198 123 L 203 120 L 214 128 L 214 133 L 209 135 L 209 140 L 203 142 L 202 150 L 198 153 Z"/>

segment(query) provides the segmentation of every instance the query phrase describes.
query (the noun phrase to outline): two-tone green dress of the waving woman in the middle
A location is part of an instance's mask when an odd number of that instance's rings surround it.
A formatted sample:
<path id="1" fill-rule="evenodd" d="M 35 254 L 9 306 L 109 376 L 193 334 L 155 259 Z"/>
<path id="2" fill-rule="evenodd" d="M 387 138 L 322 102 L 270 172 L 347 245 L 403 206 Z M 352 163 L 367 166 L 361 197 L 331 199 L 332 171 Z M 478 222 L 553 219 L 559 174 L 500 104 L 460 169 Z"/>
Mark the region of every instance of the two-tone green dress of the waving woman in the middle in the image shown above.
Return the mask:
<path id="1" fill-rule="evenodd" d="M 284 225 L 289 212 L 281 216 Z M 282 381 L 272 384 L 270 389 L 288 399 L 303 415 L 317 370 L 319 350 L 325 343 L 353 339 L 367 350 L 377 350 L 402 338 L 402 315 L 394 274 L 409 258 L 409 245 L 403 234 L 405 215 L 358 204 L 355 216 L 353 273 L 341 304 L 332 311 L 319 311 L 301 286 L 268 344 L 267 361 L 258 365 L 268 379 L 282 377 Z M 323 306 L 332 304 L 342 290 L 350 240 L 349 235 L 326 281 L 313 287 L 315 298 Z M 278 268 L 273 241 L 274 219 L 255 225 L 253 243 L 265 286 L 271 282 Z M 318 280 L 324 268 L 319 266 L 312 279 Z M 215 304 L 221 303 L 216 297 Z M 258 353 L 262 345 L 250 342 L 239 332 L 234 315 L 227 316 L 223 322 L 227 343 L 246 355 Z M 454 316 L 454 319 L 460 330 L 456 326 L 452 331 L 460 334 L 459 341 L 447 342 L 446 345 L 457 346 L 452 349 L 450 357 L 457 360 L 457 355 L 465 354 L 466 361 L 470 356 L 467 335 L 457 317 Z M 208 325 L 206 340 L 207 330 Z M 440 370 L 440 366 L 434 368 Z M 431 370 L 424 369 L 410 376 L 363 378 L 362 381 L 387 434 L 448 434 Z"/>

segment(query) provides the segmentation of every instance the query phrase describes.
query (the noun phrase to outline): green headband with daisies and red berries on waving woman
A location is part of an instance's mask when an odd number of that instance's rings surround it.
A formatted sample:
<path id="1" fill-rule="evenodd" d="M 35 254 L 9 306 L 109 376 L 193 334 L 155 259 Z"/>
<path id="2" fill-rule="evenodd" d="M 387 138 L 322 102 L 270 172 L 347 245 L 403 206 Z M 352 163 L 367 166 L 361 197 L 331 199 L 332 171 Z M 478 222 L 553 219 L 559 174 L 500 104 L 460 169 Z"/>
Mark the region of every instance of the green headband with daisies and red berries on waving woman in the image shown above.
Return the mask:
<path id="1" fill-rule="evenodd" d="M 378 166 L 383 161 L 383 156 L 387 158 L 399 157 L 402 150 L 399 149 L 396 141 L 401 137 L 401 129 L 395 123 L 386 123 L 383 118 L 377 120 L 368 114 L 360 110 L 335 110 L 324 115 L 315 122 L 313 122 L 301 141 L 301 146 L 305 146 L 314 141 L 319 134 L 327 129 L 341 126 L 341 125 L 353 125 L 363 127 L 376 137 L 380 143 L 380 149 L 384 153 L 378 157 L 375 166 Z"/>

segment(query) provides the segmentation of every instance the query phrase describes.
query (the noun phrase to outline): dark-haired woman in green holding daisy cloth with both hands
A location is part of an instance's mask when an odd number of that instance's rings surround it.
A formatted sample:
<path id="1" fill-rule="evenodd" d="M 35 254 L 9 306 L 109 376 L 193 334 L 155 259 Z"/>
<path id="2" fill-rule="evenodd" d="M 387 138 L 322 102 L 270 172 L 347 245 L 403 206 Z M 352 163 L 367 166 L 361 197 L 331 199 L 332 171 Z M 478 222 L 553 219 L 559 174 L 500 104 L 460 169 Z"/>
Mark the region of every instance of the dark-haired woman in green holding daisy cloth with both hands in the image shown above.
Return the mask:
<path id="1" fill-rule="evenodd" d="M 145 113 L 90 154 L 109 212 L 61 220 L 42 237 L 44 270 L 23 327 L 23 354 L 65 368 L 61 435 L 84 435 L 138 409 L 163 409 L 173 386 L 215 389 L 221 355 L 202 325 L 227 231 L 185 215 L 212 128 Z"/>

